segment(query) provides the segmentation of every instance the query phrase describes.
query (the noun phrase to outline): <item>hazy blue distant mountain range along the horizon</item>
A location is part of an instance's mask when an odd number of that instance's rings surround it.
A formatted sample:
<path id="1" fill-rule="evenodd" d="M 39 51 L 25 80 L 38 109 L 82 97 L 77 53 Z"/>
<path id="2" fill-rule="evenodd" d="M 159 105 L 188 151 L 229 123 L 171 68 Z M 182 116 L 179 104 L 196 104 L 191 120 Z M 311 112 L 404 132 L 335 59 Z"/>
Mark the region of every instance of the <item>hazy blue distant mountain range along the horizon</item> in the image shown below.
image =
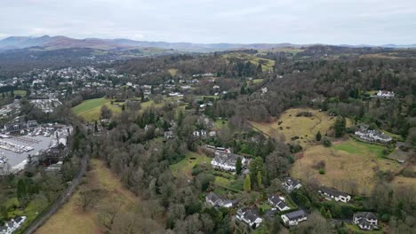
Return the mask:
<path id="1" fill-rule="evenodd" d="M 147 42 L 133 41 L 129 39 L 100 39 L 86 38 L 75 39 L 67 36 L 10 36 L 0 40 L 0 51 L 25 49 L 30 47 L 40 47 L 45 50 L 58 50 L 68 48 L 90 48 L 100 50 L 124 50 L 132 48 L 156 47 L 177 51 L 227 51 L 236 49 L 268 50 L 281 47 L 301 47 L 308 45 L 292 43 L 166 43 L 166 42 Z M 386 48 L 416 48 L 416 44 L 396 45 L 385 44 L 380 46 L 373 45 L 348 45 L 341 44 L 343 47 L 386 47 Z"/>

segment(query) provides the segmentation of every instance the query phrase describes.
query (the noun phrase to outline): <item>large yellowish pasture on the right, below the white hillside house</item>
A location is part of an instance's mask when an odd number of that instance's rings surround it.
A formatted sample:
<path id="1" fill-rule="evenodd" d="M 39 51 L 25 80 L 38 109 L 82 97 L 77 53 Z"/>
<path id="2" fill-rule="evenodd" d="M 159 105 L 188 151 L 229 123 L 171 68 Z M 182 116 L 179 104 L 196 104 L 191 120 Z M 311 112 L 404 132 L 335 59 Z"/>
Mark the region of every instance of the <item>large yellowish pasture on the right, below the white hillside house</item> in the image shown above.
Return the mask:
<path id="1" fill-rule="evenodd" d="M 305 181 L 316 180 L 340 191 L 368 195 L 379 170 L 395 172 L 400 167 L 396 161 L 382 158 L 384 149 L 384 146 L 365 144 L 352 138 L 330 148 L 311 146 L 298 154 L 291 174 Z M 320 161 L 325 164 L 324 175 L 314 168 Z"/>

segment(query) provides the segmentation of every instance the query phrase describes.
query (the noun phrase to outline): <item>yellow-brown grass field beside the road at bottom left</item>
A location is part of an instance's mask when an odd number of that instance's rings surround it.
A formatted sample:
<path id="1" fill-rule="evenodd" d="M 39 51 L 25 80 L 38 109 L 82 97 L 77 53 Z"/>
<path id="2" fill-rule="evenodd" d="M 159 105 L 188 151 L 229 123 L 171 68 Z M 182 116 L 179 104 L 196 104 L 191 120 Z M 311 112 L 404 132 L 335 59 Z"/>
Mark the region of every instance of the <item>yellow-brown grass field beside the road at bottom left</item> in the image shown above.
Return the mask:
<path id="1" fill-rule="evenodd" d="M 115 203 L 122 204 L 122 209 L 129 210 L 136 207 L 140 201 L 131 191 L 126 190 L 120 183 L 115 174 L 106 168 L 101 160 L 91 160 L 92 170 L 87 172 L 87 181 L 81 185 L 80 189 L 98 188 L 100 196 L 94 206 L 83 212 L 77 206 L 79 193 L 76 192 L 69 201 L 60 208 L 44 225 L 36 231 L 37 234 L 87 234 L 103 233 L 97 220 L 98 207 L 102 204 Z"/>

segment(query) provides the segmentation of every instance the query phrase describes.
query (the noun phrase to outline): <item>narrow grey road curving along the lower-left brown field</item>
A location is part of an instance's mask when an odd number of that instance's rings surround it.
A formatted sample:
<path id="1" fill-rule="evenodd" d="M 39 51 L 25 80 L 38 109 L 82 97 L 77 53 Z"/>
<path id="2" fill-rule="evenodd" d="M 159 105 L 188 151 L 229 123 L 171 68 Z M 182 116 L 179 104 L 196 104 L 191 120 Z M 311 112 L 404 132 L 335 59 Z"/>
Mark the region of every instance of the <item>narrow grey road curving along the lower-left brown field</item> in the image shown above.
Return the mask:
<path id="1" fill-rule="evenodd" d="M 74 191 L 76 190 L 76 186 L 81 182 L 82 177 L 85 174 L 87 167 L 87 157 L 84 156 L 84 158 L 81 160 L 81 168 L 78 171 L 78 174 L 76 177 L 72 180 L 72 183 L 69 185 L 69 187 L 62 192 L 59 199 L 56 199 L 55 202 L 52 204 L 52 206 L 49 207 L 49 210 L 44 212 L 44 214 L 40 214 L 35 221 L 33 221 L 27 230 L 25 230 L 25 234 L 32 234 L 35 233 L 35 231 L 44 224 L 53 214 L 55 214 L 60 207 L 65 204 L 65 202 L 68 201 L 68 199 L 72 196 Z"/>

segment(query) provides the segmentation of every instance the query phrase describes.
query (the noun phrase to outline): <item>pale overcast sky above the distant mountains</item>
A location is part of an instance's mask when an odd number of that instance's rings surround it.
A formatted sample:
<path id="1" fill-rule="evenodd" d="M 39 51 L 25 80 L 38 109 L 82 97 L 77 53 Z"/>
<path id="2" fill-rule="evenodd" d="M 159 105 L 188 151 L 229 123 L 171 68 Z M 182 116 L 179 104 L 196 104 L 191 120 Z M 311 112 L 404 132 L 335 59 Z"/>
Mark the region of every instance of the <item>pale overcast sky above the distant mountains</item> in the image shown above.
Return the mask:
<path id="1" fill-rule="evenodd" d="M 1 0 L 0 38 L 416 43 L 415 0 Z"/>

